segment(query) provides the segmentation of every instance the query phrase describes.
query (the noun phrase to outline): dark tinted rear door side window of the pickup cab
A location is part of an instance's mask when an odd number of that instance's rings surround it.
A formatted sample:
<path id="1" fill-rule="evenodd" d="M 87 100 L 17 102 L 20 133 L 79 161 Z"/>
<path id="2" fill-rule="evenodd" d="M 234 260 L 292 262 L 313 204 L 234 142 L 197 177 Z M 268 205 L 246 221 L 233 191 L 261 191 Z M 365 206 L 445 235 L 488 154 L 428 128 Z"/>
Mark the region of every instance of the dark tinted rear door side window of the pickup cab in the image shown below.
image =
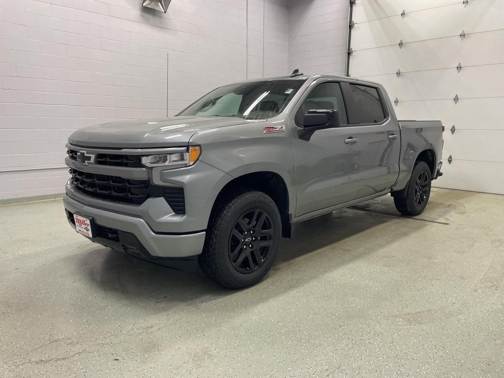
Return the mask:
<path id="1" fill-rule="evenodd" d="M 341 83 L 348 110 L 349 124 L 381 123 L 386 112 L 377 88 Z"/>

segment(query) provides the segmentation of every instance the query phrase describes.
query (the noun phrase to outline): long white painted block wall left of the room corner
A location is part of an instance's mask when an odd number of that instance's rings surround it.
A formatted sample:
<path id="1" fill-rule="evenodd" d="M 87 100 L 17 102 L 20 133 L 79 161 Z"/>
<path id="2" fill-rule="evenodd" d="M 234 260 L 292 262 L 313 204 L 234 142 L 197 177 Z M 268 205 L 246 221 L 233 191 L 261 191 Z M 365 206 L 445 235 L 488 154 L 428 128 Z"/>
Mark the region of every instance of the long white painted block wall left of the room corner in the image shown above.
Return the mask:
<path id="1" fill-rule="evenodd" d="M 220 84 L 285 74 L 286 7 L 172 0 L 164 15 L 140 0 L 0 0 L 0 199 L 61 193 L 80 127 L 172 115 Z"/>

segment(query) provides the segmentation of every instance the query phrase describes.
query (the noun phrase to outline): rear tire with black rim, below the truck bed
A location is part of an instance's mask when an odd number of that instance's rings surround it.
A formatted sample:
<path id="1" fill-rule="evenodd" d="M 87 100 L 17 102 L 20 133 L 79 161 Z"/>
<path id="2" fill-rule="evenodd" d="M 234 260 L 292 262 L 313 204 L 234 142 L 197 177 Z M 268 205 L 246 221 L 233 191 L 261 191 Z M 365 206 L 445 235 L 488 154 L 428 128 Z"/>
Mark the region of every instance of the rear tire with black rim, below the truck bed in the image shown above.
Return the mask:
<path id="1" fill-rule="evenodd" d="M 394 197 L 394 205 L 396 205 L 396 209 L 400 213 L 418 215 L 425 210 L 430 196 L 430 175 L 429 166 L 425 162 L 418 161 L 415 163 L 408 181 L 406 197 Z"/>

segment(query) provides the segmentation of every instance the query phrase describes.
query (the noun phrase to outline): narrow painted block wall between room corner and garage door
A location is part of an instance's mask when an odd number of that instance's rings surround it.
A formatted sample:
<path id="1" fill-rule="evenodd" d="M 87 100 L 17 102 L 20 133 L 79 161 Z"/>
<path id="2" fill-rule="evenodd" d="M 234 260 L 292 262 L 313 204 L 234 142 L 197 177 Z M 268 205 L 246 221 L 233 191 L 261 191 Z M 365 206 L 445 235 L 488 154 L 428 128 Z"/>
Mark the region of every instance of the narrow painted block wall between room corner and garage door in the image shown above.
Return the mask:
<path id="1" fill-rule="evenodd" d="M 288 67 L 345 75 L 348 0 L 291 0 Z"/>

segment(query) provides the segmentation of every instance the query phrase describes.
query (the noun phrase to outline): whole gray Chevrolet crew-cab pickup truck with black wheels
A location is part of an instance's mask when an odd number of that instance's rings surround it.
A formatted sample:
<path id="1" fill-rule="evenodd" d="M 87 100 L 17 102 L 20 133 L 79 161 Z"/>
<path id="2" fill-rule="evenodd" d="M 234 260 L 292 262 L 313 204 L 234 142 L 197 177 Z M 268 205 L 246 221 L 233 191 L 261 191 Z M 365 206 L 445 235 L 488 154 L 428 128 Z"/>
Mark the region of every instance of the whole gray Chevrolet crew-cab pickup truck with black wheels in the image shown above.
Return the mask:
<path id="1" fill-rule="evenodd" d="M 69 138 L 65 211 L 92 241 L 259 282 L 295 223 L 391 194 L 405 215 L 442 173 L 440 121 L 398 121 L 372 82 L 293 74 L 219 87 L 172 118 Z M 168 264 L 169 265 L 169 264 Z"/>

